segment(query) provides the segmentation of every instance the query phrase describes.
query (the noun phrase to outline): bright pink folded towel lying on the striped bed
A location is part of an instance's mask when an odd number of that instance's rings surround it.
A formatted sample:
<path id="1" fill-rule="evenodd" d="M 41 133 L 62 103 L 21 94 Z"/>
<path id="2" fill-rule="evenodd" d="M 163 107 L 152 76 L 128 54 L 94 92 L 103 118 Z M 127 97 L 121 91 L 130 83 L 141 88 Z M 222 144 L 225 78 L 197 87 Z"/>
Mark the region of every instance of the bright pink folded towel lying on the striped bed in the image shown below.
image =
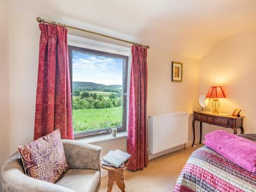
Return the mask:
<path id="1" fill-rule="evenodd" d="M 228 160 L 245 168 L 256 171 L 256 143 L 237 135 L 219 130 L 206 134 L 204 144 Z"/>

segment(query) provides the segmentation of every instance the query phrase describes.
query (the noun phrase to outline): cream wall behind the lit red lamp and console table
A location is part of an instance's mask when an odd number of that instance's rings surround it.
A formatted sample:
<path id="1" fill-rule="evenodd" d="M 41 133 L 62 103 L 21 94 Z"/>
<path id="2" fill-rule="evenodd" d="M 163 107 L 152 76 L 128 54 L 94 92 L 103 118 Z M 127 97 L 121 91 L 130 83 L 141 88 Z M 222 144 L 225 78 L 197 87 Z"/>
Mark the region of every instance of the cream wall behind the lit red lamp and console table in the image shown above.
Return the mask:
<path id="1" fill-rule="evenodd" d="M 206 94 L 210 86 L 223 86 L 227 98 L 220 99 L 219 111 L 230 114 L 235 108 L 242 109 L 245 133 L 256 133 L 255 50 L 256 29 L 218 42 L 200 60 L 200 94 Z M 211 101 L 209 106 L 212 110 Z M 204 124 L 203 135 L 219 129 Z"/>

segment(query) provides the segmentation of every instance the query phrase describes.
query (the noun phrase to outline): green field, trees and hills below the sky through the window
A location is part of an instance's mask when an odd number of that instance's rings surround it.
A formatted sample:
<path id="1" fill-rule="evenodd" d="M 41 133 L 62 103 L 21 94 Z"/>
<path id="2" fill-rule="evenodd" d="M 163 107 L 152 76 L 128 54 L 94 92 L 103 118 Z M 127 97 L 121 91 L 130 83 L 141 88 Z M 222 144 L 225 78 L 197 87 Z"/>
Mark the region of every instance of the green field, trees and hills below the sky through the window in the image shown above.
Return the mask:
<path id="1" fill-rule="evenodd" d="M 122 126 L 121 85 L 110 86 L 94 82 L 73 81 L 73 127 L 74 132 L 95 131 Z M 79 91 L 78 93 L 76 93 Z M 82 95 L 84 92 L 88 94 Z M 93 94 L 97 94 L 97 96 Z M 111 97 L 115 94 L 116 98 Z M 93 96 L 92 96 L 93 95 Z M 102 97 L 99 98 L 99 96 Z"/>

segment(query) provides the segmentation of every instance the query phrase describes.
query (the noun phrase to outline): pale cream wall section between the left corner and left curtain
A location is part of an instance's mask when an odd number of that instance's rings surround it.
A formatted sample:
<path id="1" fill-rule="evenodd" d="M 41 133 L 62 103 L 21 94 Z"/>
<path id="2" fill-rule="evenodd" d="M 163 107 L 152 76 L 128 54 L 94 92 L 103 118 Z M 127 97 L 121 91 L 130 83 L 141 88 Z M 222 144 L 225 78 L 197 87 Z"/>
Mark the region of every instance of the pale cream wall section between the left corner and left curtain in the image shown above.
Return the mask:
<path id="1" fill-rule="evenodd" d="M 34 18 L 10 13 L 10 153 L 33 140 L 39 29 Z"/>

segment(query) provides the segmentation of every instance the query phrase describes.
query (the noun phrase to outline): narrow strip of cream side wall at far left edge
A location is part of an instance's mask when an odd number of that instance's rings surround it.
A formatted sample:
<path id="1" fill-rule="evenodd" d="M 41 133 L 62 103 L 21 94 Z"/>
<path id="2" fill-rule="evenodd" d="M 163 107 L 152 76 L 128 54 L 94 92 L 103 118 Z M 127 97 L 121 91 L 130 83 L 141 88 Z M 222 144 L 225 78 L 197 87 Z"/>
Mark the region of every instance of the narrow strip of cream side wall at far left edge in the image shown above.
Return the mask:
<path id="1" fill-rule="evenodd" d="M 9 156 L 8 14 L 6 2 L 0 0 L 0 167 Z"/>

